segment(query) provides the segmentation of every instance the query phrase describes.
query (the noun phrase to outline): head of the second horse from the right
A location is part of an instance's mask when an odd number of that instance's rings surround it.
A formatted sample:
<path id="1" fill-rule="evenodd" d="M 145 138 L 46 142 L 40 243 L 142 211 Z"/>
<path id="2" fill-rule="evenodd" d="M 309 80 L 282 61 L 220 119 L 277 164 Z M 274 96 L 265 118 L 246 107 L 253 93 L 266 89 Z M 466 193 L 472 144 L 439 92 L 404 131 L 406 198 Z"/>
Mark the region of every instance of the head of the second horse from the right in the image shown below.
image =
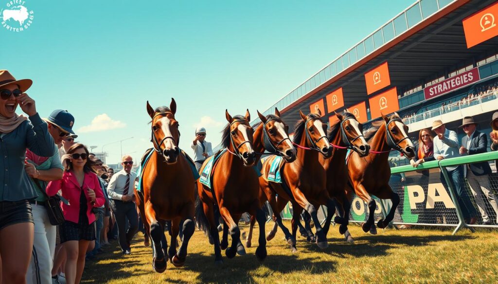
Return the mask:
<path id="1" fill-rule="evenodd" d="M 348 111 L 343 114 L 336 113 L 341 127 L 341 138 L 344 144 L 353 151 L 356 151 L 360 157 L 369 154 L 370 145 L 363 136 L 363 125 L 358 122 L 356 116 Z"/>

